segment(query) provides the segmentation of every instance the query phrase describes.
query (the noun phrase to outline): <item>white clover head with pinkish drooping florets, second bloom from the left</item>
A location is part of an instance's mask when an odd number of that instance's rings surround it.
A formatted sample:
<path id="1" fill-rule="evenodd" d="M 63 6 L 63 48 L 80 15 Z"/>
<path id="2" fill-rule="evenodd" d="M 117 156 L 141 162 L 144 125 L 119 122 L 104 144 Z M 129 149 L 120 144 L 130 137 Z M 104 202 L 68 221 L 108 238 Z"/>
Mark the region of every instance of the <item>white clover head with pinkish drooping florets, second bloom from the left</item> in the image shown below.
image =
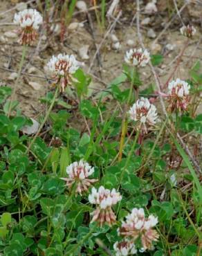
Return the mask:
<path id="1" fill-rule="evenodd" d="M 74 55 L 59 54 L 51 57 L 45 69 L 55 79 L 55 84 L 59 84 L 59 91 L 64 92 L 68 84 L 76 81 L 73 74 L 79 68 Z"/>

